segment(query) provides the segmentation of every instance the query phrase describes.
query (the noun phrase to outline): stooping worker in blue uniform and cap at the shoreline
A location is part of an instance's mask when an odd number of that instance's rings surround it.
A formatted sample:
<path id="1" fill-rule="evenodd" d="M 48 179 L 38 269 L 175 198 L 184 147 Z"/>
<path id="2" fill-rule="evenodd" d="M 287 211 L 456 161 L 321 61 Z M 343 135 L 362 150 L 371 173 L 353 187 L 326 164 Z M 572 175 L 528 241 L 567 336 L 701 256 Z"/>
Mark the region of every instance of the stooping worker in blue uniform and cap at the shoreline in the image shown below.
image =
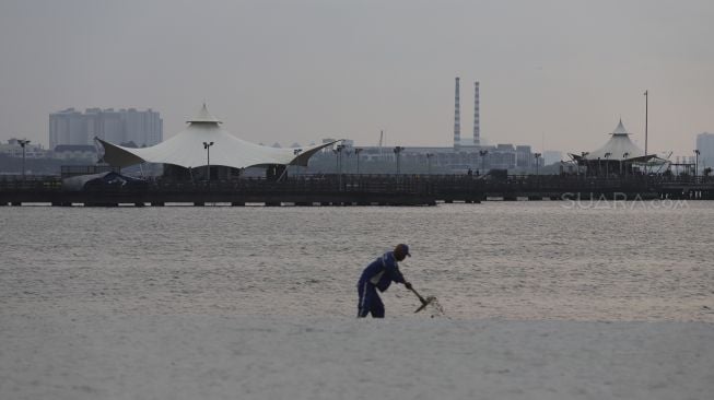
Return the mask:
<path id="1" fill-rule="evenodd" d="M 409 246 L 400 244 L 395 247 L 394 251 L 387 251 L 384 256 L 377 258 L 367 266 L 358 282 L 358 293 L 360 303 L 358 304 L 358 318 L 364 318 L 372 314 L 373 318 L 384 318 L 384 304 L 377 294 L 389 289 L 391 282 L 402 283 L 411 290 L 411 283 L 405 280 L 399 272 L 397 261 L 402 261 L 409 254 Z"/>

